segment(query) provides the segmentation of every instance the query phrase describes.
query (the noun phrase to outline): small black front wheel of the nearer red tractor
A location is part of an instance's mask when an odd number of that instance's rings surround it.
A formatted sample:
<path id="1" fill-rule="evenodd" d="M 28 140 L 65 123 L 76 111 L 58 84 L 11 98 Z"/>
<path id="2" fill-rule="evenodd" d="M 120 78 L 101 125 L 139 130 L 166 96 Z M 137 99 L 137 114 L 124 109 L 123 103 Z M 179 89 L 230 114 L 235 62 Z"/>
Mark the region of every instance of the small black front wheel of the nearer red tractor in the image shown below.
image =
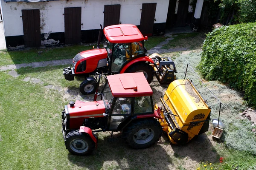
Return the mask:
<path id="1" fill-rule="evenodd" d="M 95 148 L 95 143 L 90 136 L 79 132 L 79 130 L 74 130 L 67 134 L 65 145 L 70 153 L 79 156 L 85 156 Z"/>

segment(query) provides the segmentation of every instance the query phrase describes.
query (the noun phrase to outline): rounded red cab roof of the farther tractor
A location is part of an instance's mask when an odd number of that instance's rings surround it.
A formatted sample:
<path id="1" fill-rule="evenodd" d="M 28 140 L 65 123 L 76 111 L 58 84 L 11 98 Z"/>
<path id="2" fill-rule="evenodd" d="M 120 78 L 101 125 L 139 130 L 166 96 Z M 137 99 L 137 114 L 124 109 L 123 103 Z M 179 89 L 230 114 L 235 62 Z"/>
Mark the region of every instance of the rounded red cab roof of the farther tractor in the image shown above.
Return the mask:
<path id="1" fill-rule="evenodd" d="M 105 37 L 112 43 L 130 43 L 144 40 L 137 26 L 119 24 L 104 28 Z"/>

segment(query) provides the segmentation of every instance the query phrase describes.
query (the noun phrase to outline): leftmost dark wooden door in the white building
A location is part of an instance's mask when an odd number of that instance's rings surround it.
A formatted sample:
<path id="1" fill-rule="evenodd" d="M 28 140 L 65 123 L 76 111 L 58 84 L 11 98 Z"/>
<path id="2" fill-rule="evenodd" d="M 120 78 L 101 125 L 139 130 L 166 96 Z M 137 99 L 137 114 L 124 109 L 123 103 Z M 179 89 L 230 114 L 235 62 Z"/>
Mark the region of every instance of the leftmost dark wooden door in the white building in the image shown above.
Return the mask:
<path id="1" fill-rule="evenodd" d="M 21 10 L 25 47 L 41 45 L 39 9 Z"/>

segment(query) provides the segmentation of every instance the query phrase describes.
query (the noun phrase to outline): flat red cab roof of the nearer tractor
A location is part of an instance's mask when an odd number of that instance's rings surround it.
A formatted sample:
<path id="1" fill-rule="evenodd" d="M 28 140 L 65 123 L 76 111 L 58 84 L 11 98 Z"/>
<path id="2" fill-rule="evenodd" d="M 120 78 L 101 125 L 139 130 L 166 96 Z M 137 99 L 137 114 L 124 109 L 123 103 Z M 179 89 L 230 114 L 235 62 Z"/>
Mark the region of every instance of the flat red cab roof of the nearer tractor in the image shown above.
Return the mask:
<path id="1" fill-rule="evenodd" d="M 153 94 L 143 73 L 115 74 L 107 78 L 114 97 L 138 97 Z M 137 86 L 137 91 L 134 91 L 135 86 Z"/>

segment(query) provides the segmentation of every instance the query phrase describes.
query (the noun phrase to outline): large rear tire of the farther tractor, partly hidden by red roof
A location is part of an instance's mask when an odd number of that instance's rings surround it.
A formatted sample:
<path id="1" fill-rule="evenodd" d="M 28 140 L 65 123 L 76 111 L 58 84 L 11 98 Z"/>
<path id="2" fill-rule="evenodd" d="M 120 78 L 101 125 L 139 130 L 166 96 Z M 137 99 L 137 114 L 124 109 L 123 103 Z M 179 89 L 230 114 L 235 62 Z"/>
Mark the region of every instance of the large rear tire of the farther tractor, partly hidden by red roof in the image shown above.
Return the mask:
<path id="1" fill-rule="evenodd" d="M 151 81 L 154 77 L 154 70 L 147 63 L 131 65 L 131 67 L 128 68 L 127 71 L 125 71 L 125 73 L 135 73 L 135 72 L 143 72 L 143 74 L 145 75 L 145 77 L 148 81 L 148 84 L 151 83 Z"/>

